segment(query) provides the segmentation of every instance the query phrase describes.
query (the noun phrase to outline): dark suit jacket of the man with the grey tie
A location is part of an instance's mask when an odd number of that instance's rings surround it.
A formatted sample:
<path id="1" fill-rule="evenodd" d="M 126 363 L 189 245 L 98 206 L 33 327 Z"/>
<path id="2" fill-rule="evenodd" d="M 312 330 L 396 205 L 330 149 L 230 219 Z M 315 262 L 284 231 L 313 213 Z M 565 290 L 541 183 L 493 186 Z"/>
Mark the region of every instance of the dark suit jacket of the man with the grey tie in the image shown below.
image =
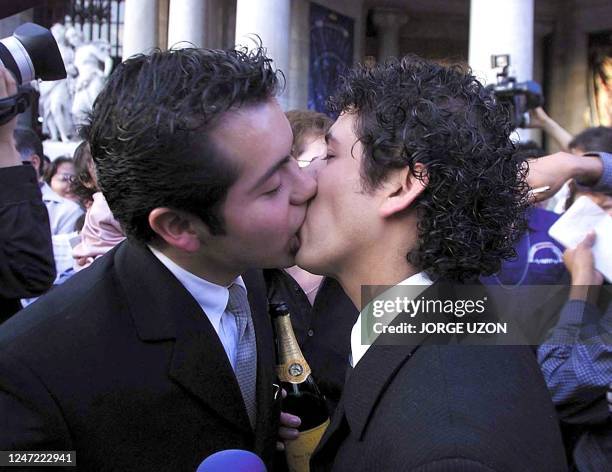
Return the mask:
<path id="1" fill-rule="evenodd" d="M 0 450 L 76 450 L 85 471 L 193 472 L 234 448 L 270 465 L 279 405 L 258 277 L 244 277 L 255 432 L 200 306 L 146 247 L 124 242 L 0 327 Z"/>

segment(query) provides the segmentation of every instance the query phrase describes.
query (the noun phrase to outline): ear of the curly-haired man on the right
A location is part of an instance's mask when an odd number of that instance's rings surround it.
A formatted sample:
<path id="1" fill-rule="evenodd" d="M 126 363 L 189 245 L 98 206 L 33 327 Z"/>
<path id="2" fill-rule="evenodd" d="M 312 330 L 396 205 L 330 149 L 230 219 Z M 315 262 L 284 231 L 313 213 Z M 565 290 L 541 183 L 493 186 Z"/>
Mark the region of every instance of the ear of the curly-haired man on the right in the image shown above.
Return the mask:
<path id="1" fill-rule="evenodd" d="M 407 209 L 412 202 L 427 187 L 427 171 L 423 164 L 417 163 L 414 166 L 414 173 L 408 167 L 396 171 L 384 184 L 385 195 L 380 206 L 380 216 L 388 218 Z"/>

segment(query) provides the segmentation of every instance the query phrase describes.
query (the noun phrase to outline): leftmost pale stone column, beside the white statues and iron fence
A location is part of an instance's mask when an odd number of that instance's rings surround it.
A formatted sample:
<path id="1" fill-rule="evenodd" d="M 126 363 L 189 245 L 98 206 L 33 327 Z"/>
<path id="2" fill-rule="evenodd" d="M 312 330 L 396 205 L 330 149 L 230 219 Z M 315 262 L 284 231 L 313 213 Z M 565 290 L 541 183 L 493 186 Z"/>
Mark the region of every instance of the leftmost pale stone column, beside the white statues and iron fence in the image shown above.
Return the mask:
<path id="1" fill-rule="evenodd" d="M 126 0 L 123 60 L 157 47 L 157 0 Z"/>

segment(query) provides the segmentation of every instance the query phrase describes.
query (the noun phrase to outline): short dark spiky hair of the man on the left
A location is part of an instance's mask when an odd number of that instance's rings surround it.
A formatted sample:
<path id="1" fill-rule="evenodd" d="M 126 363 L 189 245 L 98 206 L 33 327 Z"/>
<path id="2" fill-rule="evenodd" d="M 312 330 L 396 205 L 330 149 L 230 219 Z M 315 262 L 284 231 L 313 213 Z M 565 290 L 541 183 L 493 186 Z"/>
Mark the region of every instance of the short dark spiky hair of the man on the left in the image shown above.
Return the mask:
<path id="1" fill-rule="evenodd" d="M 224 232 L 220 206 L 237 178 L 213 142 L 221 116 L 263 103 L 281 84 L 265 50 L 155 50 L 122 63 L 82 130 L 98 184 L 129 236 L 151 241 L 156 207 L 194 214 Z"/>

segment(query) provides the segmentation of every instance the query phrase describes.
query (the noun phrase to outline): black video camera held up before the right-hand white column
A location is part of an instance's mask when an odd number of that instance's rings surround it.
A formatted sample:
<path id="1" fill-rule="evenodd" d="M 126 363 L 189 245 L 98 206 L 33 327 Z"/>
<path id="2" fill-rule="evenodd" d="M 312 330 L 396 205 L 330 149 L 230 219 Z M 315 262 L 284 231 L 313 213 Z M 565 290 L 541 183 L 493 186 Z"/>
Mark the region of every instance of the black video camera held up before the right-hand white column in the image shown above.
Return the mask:
<path id="1" fill-rule="evenodd" d="M 502 67 L 497 74 L 497 83 L 487 86 L 495 98 L 505 105 L 515 128 L 526 128 L 529 125 L 529 110 L 544 104 L 542 87 L 533 80 L 517 82 L 516 77 L 511 77 L 508 72 L 510 66 L 510 55 L 491 57 L 493 68 Z"/>

